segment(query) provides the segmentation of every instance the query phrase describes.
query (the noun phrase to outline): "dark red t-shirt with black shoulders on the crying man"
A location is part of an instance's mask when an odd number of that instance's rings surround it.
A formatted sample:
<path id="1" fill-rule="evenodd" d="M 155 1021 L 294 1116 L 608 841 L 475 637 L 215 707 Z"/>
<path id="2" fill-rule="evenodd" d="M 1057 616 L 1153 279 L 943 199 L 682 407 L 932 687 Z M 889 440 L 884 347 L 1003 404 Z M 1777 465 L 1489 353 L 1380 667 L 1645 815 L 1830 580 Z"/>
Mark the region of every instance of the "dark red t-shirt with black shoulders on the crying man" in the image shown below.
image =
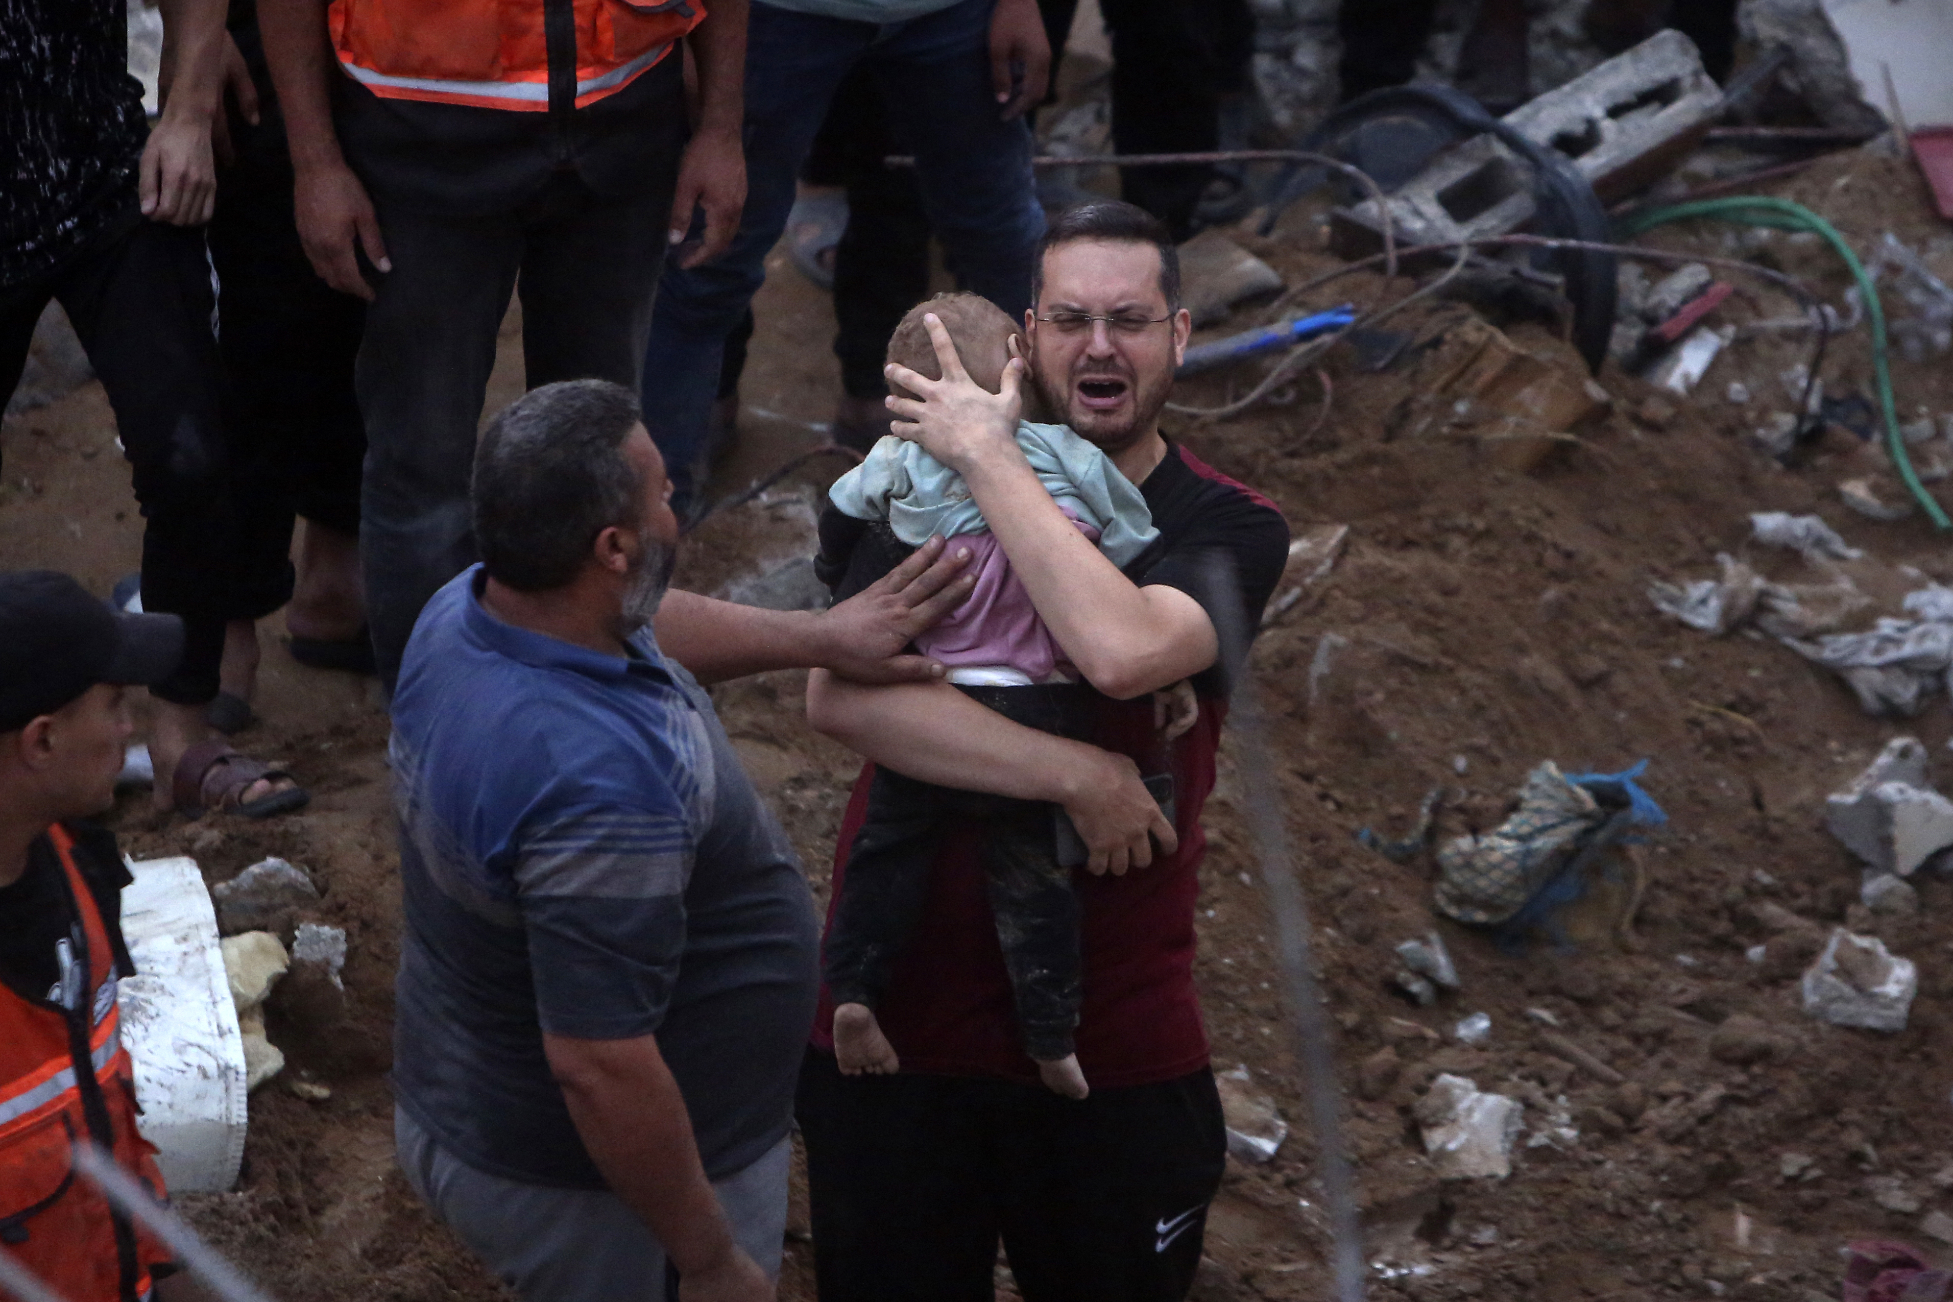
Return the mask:
<path id="1" fill-rule="evenodd" d="M 1244 627 L 1258 627 L 1287 562 L 1289 527 L 1281 511 L 1178 445 L 1168 445 L 1141 494 L 1160 539 L 1125 568 L 1127 578 L 1143 588 L 1178 588 L 1209 611 L 1234 603 Z M 1215 552 L 1232 562 L 1232 591 L 1217 584 Z M 820 574 L 840 597 L 875 582 L 904 554 L 885 525 L 869 527 L 832 509 L 820 523 Z M 1215 617 L 1217 627 L 1226 621 Z M 1199 820 L 1215 785 L 1226 685 L 1236 668 L 1215 666 L 1195 675 L 1201 718 L 1172 746 L 1160 742 L 1150 697 L 1100 699 L 1098 744 L 1131 755 L 1141 773 L 1174 775 L 1180 832 L 1174 857 L 1148 869 L 1125 876 L 1074 875 L 1084 953 L 1078 1064 L 1100 1089 L 1172 1079 L 1207 1064 L 1207 1031 L 1193 992 L 1193 902 L 1207 847 Z M 842 820 L 834 898 L 867 808 L 871 773 L 873 765 L 861 771 Z M 980 835 L 978 826 L 951 826 L 943 835 L 924 919 L 894 964 L 877 1017 L 904 1072 L 1035 1081 L 1037 1068 L 1018 1038 L 1010 978 L 984 894 Z M 832 1048 L 832 1025 L 834 1005 L 822 988 L 816 1046 Z"/>

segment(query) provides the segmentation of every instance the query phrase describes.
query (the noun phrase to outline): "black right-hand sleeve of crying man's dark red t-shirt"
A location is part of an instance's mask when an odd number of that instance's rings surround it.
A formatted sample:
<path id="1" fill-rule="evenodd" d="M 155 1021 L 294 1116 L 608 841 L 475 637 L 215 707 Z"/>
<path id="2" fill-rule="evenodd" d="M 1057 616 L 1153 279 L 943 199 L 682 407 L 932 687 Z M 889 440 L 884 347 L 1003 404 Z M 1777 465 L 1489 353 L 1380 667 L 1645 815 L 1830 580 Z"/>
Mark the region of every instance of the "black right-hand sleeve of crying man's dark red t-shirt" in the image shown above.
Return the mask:
<path id="1" fill-rule="evenodd" d="M 1135 584 L 1178 588 L 1201 603 L 1221 634 L 1223 662 L 1193 677 L 1203 695 L 1232 687 L 1287 562 L 1289 523 L 1240 490 L 1213 492 L 1158 558 L 1141 556 Z M 1238 632 L 1234 646 L 1230 629 Z"/>

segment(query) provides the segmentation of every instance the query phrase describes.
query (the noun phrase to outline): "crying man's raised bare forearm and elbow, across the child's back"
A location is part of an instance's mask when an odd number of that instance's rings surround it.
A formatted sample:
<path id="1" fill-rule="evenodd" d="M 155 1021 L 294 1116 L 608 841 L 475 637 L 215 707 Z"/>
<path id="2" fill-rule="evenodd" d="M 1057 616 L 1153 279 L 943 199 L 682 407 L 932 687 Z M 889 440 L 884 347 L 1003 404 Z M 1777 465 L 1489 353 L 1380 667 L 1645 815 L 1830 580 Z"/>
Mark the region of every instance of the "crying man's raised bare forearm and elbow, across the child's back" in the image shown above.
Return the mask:
<path id="1" fill-rule="evenodd" d="M 1199 603 L 1125 578 L 1021 455 L 984 459 L 965 468 L 965 482 L 1037 617 L 1094 687 L 1137 697 L 1215 662 L 1219 640 Z"/>

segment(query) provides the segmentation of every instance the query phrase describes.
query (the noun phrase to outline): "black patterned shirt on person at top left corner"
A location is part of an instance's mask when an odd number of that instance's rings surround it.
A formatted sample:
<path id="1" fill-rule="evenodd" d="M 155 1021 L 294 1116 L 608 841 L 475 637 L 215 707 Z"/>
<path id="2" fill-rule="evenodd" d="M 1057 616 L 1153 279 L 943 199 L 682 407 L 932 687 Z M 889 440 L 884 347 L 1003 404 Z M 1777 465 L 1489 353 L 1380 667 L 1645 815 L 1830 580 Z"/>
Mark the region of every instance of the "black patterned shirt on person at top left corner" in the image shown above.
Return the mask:
<path id="1" fill-rule="evenodd" d="M 148 125 L 127 0 L 0 0 L 0 287 L 133 223 Z"/>

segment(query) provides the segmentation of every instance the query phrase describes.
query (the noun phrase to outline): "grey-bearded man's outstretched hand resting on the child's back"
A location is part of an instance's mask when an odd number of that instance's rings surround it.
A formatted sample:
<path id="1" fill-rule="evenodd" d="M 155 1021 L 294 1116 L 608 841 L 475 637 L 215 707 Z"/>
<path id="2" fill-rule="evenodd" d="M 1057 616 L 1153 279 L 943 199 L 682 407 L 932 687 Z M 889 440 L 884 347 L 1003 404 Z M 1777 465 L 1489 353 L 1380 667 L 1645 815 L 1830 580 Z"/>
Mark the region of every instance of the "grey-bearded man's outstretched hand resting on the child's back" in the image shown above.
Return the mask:
<path id="1" fill-rule="evenodd" d="M 971 595 L 976 580 L 961 574 L 967 560 L 969 549 L 930 539 L 914 556 L 828 607 L 818 615 L 820 668 L 871 685 L 939 679 L 941 664 L 904 648 Z"/>

